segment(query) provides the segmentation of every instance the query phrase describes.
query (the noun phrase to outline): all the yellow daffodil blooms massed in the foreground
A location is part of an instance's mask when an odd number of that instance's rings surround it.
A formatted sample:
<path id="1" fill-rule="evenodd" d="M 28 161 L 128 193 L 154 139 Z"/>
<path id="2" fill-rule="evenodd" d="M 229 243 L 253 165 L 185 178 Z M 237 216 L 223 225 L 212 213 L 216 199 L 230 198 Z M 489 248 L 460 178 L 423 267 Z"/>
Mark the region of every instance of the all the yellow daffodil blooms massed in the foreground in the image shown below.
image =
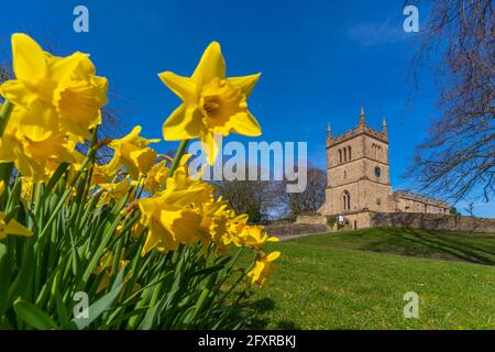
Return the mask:
<path id="1" fill-rule="evenodd" d="M 265 284 L 280 253 L 266 254 L 263 246 L 277 239 L 268 237 L 263 227 L 248 224 L 246 216 L 235 215 L 226 199 L 215 197 L 212 185 L 190 177 L 189 155 L 184 154 L 187 141 L 199 139 L 212 165 L 219 138 L 231 132 L 261 134 L 246 102 L 260 75 L 227 78 L 226 63 L 216 42 L 205 51 L 190 77 L 160 74 L 183 100 L 163 124 L 164 139 L 183 141 L 184 146 L 175 158 L 169 158 L 152 147 L 158 139 L 140 135 L 141 127 L 122 139 L 97 141 L 101 108 L 108 102 L 108 80 L 96 75 L 88 55 L 53 56 L 25 34 L 12 36 L 12 53 L 15 79 L 0 86 L 4 98 L 0 165 L 15 166 L 16 176 L 22 179 L 22 198 L 36 196 L 33 187 L 52 180 L 61 165 L 67 167 L 64 176 L 69 184 L 77 173 L 90 169 L 88 197 L 98 197 L 100 208 L 124 200 L 122 223 L 116 235 L 127 228 L 131 239 L 145 237 L 142 256 L 193 245 L 201 246 L 205 255 L 215 252 L 222 256 L 232 248 L 246 248 L 255 253 L 246 275 L 248 286 Z M 90 145 L 87 155 L 77 148 L 84 143 Z M 98 165 L 95 154 L 102 145 L 113 151 L 113 157 L 108 164 Z M 0 182 L 0 197 L 9 183 L 10 179 Z M 80 191 L 75 188 L 73 193 Z M 9 234 L 37 235 L 36 231 L 36 226 L 23 226 L 11 213 L 0 211 L 0 240 Z M 107 270 L 111 271 L 111 266 Z"/>

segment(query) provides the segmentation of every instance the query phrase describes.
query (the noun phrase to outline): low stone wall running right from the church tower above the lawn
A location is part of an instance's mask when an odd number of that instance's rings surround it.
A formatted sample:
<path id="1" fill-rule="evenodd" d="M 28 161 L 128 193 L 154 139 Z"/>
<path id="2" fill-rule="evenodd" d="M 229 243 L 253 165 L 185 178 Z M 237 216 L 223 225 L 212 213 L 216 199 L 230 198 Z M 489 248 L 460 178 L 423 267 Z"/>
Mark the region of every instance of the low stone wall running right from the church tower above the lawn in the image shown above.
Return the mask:
<path id="1" fill-rule="evenodd" d="M 400 227 L 468 233 L 495 233 L 495 219 L 443 216 L 435 213 L 372 213 L 372 227 Z"/>

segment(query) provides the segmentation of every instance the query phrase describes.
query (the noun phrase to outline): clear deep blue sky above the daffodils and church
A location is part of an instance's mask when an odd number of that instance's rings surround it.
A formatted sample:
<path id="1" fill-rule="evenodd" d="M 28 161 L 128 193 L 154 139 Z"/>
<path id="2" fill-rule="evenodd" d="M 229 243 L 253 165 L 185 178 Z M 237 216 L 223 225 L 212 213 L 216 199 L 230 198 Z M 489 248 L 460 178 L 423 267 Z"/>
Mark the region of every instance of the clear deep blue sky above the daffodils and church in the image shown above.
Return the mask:
<path id="1" fill-rule="evenodd" d="M 89 33 L 73 31 L 77 4 L 89 9 Z M 334 134 L 345 132 L 364 106 L 370 125 L 380 129 L 387 119 L 392 185 L 399 189 L 407 187 L 402 175 L 437 113 L 429 73 L 407 102 L 410 61 L 428 15 L 427 4 L 418 9 L 420 32 L 406 33 L 397 0 L 6 1 L 0 55 L 10 56 L 14 32 L 53 45 L 57 55 L 90 53 L 98 74 L 110 80 L 122 133 L 141 124 L 144 135 L 161 138 L 179 100 L 156 75 L 190 75 L 205 47 L 219 41 L 228 76 L 263 74 L 249 101 L 263 128 L 260 140 L 307 141 L 310 162 L 324 167 L 327 123 Z M 492 208 L 479 204 L 475 213 L 495 216 Z"/>

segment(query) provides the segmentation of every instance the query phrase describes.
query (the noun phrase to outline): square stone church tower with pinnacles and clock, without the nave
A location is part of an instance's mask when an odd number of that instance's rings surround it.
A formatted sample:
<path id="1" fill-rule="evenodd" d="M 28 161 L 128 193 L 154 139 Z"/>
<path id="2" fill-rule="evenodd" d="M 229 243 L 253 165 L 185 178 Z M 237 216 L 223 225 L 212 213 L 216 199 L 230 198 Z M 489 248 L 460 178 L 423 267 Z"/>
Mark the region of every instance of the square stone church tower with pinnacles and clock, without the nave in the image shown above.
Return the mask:
<path id="1" fill-rule="evenodd" d="M 394 211 L 388 173 L 387 125 L 382 131 L 366 125 L 361 108 L 358 127 L 338 138 L 328 127 L 326 216 L 362 211 Z"/>

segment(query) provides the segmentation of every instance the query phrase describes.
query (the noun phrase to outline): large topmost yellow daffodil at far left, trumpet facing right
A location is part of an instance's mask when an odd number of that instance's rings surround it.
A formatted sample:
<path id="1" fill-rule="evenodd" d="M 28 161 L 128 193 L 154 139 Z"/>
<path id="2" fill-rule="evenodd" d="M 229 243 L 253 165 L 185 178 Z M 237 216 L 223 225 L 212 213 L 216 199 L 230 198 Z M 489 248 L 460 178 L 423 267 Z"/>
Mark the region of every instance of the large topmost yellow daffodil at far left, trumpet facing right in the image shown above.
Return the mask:
<path id="1" fill-rule="evenodd" d="M 20 132 L 33 142 L 72 133 L 89 139 L 101 123 L 108 81 L 96 76 L 88 55 L 56 57 L 25 34 L 12 35 L 15 78 L 0 86 L 3 97 L 21 109 Z"/>

